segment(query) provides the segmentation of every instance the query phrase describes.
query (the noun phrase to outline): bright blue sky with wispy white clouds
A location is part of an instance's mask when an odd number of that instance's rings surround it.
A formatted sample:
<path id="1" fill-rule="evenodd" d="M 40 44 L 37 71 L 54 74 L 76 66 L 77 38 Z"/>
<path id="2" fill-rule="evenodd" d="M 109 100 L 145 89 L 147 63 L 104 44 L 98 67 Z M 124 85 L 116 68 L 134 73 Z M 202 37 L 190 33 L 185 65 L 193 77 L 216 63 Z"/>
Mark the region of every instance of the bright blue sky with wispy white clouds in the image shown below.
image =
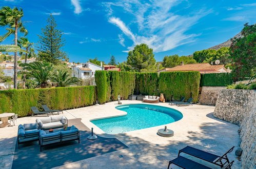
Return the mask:
<path id="1" fill-rule="evenodd" d="M 21 7 L 29 40 L 45 27 L 49 13 L 64 32 L 70 61 L 114 55 L 125 61 L 127 51 L 145 43 L 156 61 L 166 55 L 189 55 L 218 45 L 239 33 L 244 23 L 256 23 L 255 1 L 91 1 L 0 0 L 1 6 Z M 4 34 L 0 28 L 0 34 Z M 20 34 L 21 35 L 21 34 Z M 13 37 L 4 41 L 12 43 Z"/>

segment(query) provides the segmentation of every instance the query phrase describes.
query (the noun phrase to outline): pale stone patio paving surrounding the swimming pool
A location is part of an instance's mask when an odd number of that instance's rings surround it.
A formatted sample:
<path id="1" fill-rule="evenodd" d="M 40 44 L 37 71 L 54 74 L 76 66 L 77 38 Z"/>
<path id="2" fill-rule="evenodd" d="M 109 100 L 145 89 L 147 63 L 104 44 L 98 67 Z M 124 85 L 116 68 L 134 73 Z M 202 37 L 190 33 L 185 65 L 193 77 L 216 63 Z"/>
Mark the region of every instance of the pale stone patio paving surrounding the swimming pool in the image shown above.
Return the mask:
<path id="1" fill-rule="evenodd" d="M 64 115 L 68 119 L 82 118 L 82 122 L 88 128 L 93 127 L 97 135 L 116 137 L 125 143 L 128 149 L 55 168 L 167 168 L 169 160 L 174 159 L 179 150 L 186 145 L 216 155 L 224 154 L 232 146 L 235 146 L 235 149 L 239 146 L 239 126 L 214 118 L 212 116 L 214 107 L 208 105 L 176 107 L 168 105 L 168 103 L 156 104 L 182 112 L 181 120 L 167 124 L 168 128 L 174 131 L 173 137 L 161 137 L 156 134 L 158 129 L 164 128 L 164 125 L 116 135 L 105 134 L 89 120 L 126 114 L 126 112 L 115 109 L 116 103 L 117 101 L 113 101 L 104 105 L 67 110 L 64 111 Z M 122 100 L 122 103 L 143 102 Z M 40 116 L 18 118 L 18 123 L 32 123 L 36 118 L 40 118 Z M 16 135 L 17 125 L 0 128 L 0 168 L 11 168 L 12 166 Z M 228 157 L 235 161 L 232 168 L 240 168 L 240 161 L 234 155 L 234 151 Z M 213 167 L 204 161 L 200 162 Z"/>

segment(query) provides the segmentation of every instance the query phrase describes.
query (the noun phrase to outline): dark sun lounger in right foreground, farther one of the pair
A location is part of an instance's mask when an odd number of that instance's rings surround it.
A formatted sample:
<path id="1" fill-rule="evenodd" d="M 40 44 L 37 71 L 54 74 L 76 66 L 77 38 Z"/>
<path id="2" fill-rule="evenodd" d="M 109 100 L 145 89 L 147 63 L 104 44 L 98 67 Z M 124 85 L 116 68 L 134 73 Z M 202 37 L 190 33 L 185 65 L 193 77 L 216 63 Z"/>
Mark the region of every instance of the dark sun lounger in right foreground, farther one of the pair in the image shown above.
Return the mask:
<path id="1" fill-rule="evenodd" d="M 232 152 L 233 149 L 234 149 L 234 146 L 229 151 L 227 151 L 223 156 L 218 156 L 218 155 L 214 155 L 199 149 L 195 149 L 194 147 L 191 147 L 191 146 L 186 146 L 184 149 L 179 151 L 178 156 L 180 156 L 181 153 L 186 153 L 196 158 L 200 158 L 202 160 L 205 160 L 210 163 L 219 165 L 220 167 L 223 167 L 226 163 L 229 163 L 227 154 Z"/>

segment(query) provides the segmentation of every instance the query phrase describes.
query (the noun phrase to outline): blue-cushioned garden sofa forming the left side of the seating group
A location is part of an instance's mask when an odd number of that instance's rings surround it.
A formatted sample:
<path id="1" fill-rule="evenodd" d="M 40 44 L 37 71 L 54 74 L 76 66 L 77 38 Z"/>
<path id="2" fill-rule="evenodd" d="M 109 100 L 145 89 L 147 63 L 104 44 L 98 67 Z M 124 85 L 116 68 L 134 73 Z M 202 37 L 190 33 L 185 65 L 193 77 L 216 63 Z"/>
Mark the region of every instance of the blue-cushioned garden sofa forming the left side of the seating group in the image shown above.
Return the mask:
<path id="1" fill-rule="evenodd" d="M 18 148 L 19 144 L 39 140 L 39 132 L 40 130 L 37 130 L 37 123 L 19 124 L 17 136 Z"/>

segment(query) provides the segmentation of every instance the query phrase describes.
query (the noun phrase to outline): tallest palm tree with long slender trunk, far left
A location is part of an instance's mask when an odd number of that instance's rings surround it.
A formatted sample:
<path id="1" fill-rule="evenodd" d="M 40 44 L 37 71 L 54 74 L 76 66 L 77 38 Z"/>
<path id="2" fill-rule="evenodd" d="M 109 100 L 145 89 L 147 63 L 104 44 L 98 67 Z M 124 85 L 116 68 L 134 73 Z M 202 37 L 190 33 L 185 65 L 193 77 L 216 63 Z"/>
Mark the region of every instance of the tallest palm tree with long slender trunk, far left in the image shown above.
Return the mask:
<path id="1" fill-rule="evenodd" d="M 25 33 L 25 35 L 27 35 L 28 33 L 28 31 L 23 26 L 23 22 L 21 20 L 22 16 L 22 8 L 18 10 L 17 7 L 14 7 L 13 9 L 11 9 L 10 7 L 2 7 L 2 9 L 0 10 L 0 25 L 8 25 L 10 28 L 14 28 L 15 30 L 15 46 L 17 46 L 18 30 Z M 14 89 L 17 89 L 17 52 L 14 52 Z"/>

